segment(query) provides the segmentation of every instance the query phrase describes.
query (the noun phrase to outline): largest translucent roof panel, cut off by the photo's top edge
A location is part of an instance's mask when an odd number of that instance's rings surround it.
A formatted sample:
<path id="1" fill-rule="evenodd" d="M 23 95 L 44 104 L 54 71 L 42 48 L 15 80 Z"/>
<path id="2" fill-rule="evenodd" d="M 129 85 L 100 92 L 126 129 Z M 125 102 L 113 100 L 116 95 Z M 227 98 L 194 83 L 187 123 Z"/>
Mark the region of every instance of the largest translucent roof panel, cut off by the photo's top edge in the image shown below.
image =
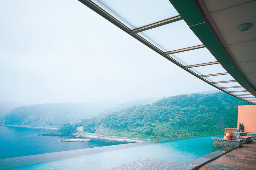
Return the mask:
<path id="1" fill-rule="evenodd" d="M 179 15 L 168 0 L 92 0 L 130 29 Z"/>

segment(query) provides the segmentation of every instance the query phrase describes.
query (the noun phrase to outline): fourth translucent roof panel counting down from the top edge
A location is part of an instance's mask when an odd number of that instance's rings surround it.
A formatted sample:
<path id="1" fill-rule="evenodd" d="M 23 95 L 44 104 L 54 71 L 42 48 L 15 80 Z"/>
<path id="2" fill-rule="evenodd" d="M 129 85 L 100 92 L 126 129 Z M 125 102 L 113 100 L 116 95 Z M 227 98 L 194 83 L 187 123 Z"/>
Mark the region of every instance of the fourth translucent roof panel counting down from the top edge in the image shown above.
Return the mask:
<path id="1" fill-rule="evenodd" d="M 208 65 L 208 66 L 193 67 L 193 68 L 189 68 L 189 69 L 198 75 L 226 73 L 226 70 L 220 64 L 212 64 L 212 65 Z"/>

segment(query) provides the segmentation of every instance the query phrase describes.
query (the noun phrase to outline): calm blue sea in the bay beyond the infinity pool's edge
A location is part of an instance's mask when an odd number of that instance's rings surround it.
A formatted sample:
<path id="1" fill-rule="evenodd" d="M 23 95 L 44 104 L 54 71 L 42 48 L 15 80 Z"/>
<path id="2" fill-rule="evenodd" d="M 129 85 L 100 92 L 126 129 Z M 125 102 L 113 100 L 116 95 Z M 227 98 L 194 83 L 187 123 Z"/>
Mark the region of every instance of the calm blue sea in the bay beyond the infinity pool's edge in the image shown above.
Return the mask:
<path id="1" fill-rule="evenodd" d="M 52 131 L 48 129 L 0 126 L 0 159 L 124 143 L 106 140 L 60 142 L 58 140 L 67 139 L 68 137 L 36 136 L 36 134 L 45 134 Z"/>

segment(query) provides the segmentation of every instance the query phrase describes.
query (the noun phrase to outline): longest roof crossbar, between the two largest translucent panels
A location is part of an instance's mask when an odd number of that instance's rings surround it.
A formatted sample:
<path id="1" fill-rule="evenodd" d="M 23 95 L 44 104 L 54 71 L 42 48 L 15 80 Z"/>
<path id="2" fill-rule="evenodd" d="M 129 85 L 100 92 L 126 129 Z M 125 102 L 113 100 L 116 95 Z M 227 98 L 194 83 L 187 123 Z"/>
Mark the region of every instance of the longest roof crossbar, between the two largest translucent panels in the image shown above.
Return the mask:
<path id="1" fill-rule="evenodd" d="M 180 21 L 180 20 L 182 20 L 182 17 L 180 15 L 178 15 L 178 16 L 175 16 L 175 17 L 171 17 L 171 18 L 159 21 L 159 22 L 155 22 L 153 24 L 149 24 L 149 25 L 146 25 L 146 26 L 143 26 L 143 27 L 140 27 L 140 28 L 133 29 L 131 32 L 129 32 L 129 34 L 130 35 L 136 34 L 136 33 L 139 33 L 139 32 L 143 32 L 145 30 L 149 30 L 149 29 L 152 29 L 152 28 L 156 28 L 156 27 L 163 26 L 165 24 L 169 24 L 169 23 L 172 23 L 172 22 Z"/>

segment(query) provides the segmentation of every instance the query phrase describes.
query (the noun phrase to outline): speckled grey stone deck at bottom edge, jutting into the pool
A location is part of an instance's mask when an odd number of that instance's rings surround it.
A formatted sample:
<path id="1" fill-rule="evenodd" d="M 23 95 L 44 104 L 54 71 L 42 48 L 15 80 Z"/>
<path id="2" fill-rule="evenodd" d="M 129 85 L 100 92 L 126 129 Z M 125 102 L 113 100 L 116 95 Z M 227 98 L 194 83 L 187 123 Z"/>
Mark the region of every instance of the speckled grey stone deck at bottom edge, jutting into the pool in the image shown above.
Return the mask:
<path id="1" fill-rule="evenodd" d="M 195 165 L 144 158 L 108 170 L 191 170 Z"/>

